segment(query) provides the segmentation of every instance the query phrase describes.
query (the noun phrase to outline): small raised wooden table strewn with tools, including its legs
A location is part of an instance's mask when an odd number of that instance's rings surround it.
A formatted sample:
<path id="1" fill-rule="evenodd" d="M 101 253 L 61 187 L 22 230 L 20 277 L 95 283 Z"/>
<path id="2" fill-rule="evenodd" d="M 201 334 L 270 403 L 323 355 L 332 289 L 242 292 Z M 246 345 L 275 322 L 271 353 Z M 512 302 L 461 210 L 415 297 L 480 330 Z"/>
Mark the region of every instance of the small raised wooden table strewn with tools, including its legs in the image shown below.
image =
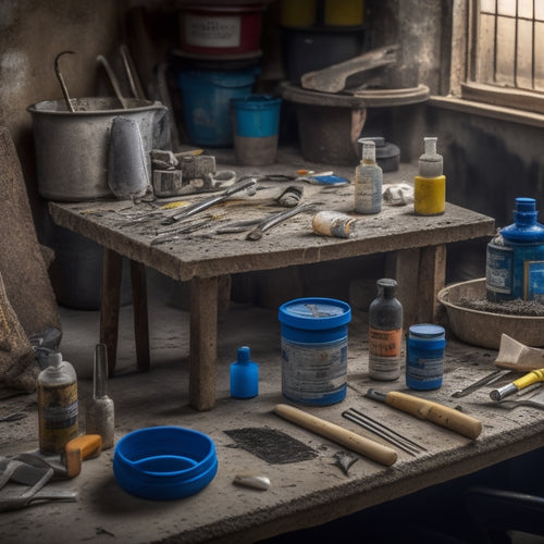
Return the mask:
<path id="1" fill-rule="evenodd" d="M 232 154 L 232 153 L 231 153 Z M 322 171 L 324 165 L 309 164 L 289 150 L 281 150 L 276 164 L 240 168 L 230 163 L 228 154 L 218 156 L 218 170 L 233 169 L 238 177 L 249 174 L 294 174 L 297 169 Z M 335 169 L 337 175 L 353 181 L 354 169 Z M 398 172 L 384 175 L 385 184 L 411 183 L 416 170 L 405 164 Z M 190 404 L 198 410 L 213 408 L 215 401 L 218 292 L 222 276 L 285 267 L 336 261 L 373 254 L 387 254 L 386 274 L 399 282 L 399 298 L 405 323 L 435 320 L 436 294 L 444 286 L 446 245 L 493 236 L 494 220 L 447 203 L 438 217 L 417 217 L 412 206 L 384 206 L 380 214 L 360 215 L 349 238 L 318 236 L 312 233 L 314 212 L 306 212 L 267 232 L 257 242 L 246 233 L 215 234 L 226 221 L 239 221 L 281 210 L 271 206 L 289 182 L 262 182 L 255 196 L 233 199 L 213 208 L 206 227 L 153 245 L 161 219 L 136 222 L 150 211 L 150 205 L 129 201 L 50 202 L 53 221 L 89 237 L 104 247 L 101 342 L 108 345 L 110 369 L 115 366 L 118 316 L 122 257 L 131 260 L 138 368 L 149 367 L 149 341 L 145 267 L 151 267 L 180 281 L 190 281 Z M 193 195 L 193 202 L 209 195 Z M 316 210 L 353 213 L 353 184 L 322 187 L 305 184 L 305 202 Z M 199 221 L 206 214 L 197 217 Z M 316 294 L 319 295 L 319 294 Z"/>

